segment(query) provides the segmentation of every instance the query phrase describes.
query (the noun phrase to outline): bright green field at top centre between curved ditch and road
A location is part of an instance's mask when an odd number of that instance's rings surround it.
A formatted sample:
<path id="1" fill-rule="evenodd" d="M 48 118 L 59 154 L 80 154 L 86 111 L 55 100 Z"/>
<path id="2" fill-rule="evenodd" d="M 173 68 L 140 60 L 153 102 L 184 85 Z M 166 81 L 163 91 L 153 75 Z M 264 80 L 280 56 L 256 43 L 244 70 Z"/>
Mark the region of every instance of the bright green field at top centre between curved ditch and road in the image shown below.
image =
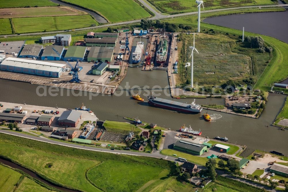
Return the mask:
<path id="1" fill-rule="evenodd" d="M 147 18 L 150 14 L 133 0 L 65 0 L 66 2 L 80 5 L 89 10 L 100 13 L 110 22 L 120 22 Z"/>

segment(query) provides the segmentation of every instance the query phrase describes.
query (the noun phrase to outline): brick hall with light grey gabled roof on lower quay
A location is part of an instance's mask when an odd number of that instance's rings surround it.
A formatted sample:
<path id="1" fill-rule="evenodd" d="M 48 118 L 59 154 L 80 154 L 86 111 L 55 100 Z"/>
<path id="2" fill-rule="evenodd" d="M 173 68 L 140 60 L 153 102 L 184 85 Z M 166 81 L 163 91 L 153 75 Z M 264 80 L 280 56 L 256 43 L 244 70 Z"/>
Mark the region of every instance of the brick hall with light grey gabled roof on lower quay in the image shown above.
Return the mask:
<path id="1" fill-rule="evenodd" d="M 58 125 L 77 127 L 82 113 L 76 110 L 64 111 L 58 119 Z"/>

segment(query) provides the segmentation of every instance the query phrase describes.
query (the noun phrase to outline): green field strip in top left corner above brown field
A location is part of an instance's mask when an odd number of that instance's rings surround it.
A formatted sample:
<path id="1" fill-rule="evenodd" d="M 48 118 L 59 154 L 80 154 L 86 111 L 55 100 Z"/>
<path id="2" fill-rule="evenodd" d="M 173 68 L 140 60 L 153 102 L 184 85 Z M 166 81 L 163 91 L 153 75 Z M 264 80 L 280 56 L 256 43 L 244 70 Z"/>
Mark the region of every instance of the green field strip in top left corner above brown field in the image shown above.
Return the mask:
<path id="1" fill-rule="evenodd" d="M 57 6 L 58 4 L 53 3 L 49 0 L 0 0 L 0 8 L 13 8 L 13 7 L 47 7 L 47 6 Z"/>

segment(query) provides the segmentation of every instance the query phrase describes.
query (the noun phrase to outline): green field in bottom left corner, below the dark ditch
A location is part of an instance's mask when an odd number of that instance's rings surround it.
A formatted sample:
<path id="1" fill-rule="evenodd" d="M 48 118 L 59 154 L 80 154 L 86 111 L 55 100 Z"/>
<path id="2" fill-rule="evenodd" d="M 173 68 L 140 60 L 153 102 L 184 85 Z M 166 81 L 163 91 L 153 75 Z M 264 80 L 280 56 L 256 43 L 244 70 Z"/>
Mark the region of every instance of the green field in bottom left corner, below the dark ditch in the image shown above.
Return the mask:
<path id="1" fill-rule="evenodd" d="M 13 169 L 0 164 L 0 189 L 1 191 L 12 191 L 14 185 L 22 175 Z"/>

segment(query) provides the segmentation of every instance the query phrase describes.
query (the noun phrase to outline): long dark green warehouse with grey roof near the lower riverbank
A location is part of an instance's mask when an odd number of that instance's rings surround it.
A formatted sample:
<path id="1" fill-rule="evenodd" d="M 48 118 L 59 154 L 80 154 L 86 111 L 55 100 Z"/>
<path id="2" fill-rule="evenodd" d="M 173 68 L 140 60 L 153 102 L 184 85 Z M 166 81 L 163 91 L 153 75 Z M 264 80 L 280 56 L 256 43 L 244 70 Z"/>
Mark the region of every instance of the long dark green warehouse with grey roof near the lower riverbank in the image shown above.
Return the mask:
<path id="1" fill-rule="evenodd" d="M 178 140 L 173 146 L 174 149 L 185 151 L 187 153 L 191 153 L 193 155 L 202 155 L 205 151 L 207 151 L 207 146 L 202 144 L 196 144 L 185 140 Z"/>

